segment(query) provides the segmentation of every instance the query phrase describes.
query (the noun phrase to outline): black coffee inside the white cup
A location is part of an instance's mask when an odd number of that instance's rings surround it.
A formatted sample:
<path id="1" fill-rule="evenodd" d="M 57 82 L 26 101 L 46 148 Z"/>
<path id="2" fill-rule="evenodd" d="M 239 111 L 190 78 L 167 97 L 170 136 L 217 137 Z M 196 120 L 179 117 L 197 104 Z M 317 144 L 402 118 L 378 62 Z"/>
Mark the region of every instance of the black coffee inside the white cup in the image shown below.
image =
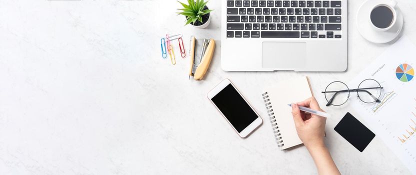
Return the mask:
<path id="1" fill-rule="evenodd" d="M 393 11 L 384 5 L 377 6 L 372 9 L 370 19 L 376 27 L 387 28 L 393 22 Z"/>

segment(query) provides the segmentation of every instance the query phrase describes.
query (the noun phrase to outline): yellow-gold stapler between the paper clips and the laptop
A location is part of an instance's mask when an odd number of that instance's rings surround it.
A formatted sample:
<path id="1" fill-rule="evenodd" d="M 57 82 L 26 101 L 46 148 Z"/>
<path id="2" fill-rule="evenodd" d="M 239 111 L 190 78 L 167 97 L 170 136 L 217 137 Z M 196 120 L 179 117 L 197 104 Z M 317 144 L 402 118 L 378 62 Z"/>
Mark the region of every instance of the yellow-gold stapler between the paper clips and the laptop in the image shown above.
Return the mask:
<path id="1" fill-rule="evenodd" d="M 190 36 L 189 43 L 189 79 L 193 76 L 193 79 L 201 80 L 214 54 L 215 40 L 195 39 L 195 36 Z"/>

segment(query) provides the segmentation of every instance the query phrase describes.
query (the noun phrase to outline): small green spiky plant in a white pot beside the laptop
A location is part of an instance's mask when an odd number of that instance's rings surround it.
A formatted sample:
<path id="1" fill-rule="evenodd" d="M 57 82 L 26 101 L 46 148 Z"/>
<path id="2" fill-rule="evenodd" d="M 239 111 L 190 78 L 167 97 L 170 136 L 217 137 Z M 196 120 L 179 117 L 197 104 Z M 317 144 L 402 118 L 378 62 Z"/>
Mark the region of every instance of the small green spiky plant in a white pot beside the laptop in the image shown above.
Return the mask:
<path id="1" fill-rule="evenodd" d="M 196 28 L 205 28 L 211 21 L 211 15 L 209 15 L 209 12 L 212 11 L 206 6 L 207 2 L 208 1 L 204 2 L 203 0 L 188 0 L 188 4 L 179 2 L 183 8 L 179 8 L 178 10 L 182 11 L 177 13 L 186 17 L 185 25 L 190 23 Z"/>

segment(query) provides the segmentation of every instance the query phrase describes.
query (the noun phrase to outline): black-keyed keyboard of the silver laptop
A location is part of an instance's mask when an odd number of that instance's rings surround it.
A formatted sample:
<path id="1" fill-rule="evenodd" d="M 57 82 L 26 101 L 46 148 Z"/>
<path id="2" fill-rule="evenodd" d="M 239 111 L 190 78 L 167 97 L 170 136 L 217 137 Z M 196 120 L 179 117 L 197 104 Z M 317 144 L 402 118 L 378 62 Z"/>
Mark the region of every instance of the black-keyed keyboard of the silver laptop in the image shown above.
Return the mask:
<path id="1" fill-rule="evenodd" d="M 226 0 L 227 37 L 341 38 L 340 0 Z"/>

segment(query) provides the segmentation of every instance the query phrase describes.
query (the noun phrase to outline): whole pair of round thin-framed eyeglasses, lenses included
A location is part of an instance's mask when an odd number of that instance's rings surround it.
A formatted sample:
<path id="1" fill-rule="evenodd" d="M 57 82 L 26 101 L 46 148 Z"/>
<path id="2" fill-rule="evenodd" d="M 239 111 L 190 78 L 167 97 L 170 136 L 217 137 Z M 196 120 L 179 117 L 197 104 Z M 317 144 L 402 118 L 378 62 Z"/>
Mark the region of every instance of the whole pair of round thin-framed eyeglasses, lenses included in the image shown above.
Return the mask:
<path id="1" fill-rule="evenodd" d="M 325 95 L 325 99 L 328 103 L 326 106 L 335 105 L 339 106 L 344 104 L 348 98 L 350 92 L 357 92 L 358 98 L 365 103 L 380 102 L 378 99 L 381 95 L 380 83 L 375 79 L 364 79 L 358 84 L 357 88 L 349 89 L 348 86 L 341 81 L 333 81 L 329 83 L 325 91 L 322 91 Z"/>

